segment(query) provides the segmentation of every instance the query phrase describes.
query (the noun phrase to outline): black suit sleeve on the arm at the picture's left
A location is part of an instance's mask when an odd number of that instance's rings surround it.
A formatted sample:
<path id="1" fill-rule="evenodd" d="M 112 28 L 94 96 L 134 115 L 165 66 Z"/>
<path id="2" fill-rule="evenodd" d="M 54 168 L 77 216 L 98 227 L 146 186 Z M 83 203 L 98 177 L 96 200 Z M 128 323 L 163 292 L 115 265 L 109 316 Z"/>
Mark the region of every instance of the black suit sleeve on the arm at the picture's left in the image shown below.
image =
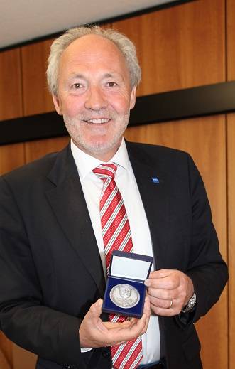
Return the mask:
<path id="1" fill-rule="evenodd" d="M 86 368 L 80 319 L 43 305 L 26 228 L 11 188 L 0 178 L 0 325 L 7 337 L 42 358 Z"/>

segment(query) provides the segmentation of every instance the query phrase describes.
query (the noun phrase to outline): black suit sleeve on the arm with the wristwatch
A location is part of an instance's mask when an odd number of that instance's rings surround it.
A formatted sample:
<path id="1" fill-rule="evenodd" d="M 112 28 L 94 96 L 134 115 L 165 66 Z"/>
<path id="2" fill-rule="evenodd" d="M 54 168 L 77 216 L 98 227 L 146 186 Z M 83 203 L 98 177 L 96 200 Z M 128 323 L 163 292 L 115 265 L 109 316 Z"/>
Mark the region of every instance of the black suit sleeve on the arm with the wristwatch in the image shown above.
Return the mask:
<path id="1" fill-rule="evenodd" d="M 197 306 L 192 321 L 218 301 L 228 279 L 225 262 L 219 252 L 219 242 L 212 223 L 212 214 L 204 183 L 189 156 L 190 198 L 192 208 L 192 238 L 190 260 L 186 274 L 192 279 L 197 295 Z M 182 319 L 185 319 L 182 314 Z"/>

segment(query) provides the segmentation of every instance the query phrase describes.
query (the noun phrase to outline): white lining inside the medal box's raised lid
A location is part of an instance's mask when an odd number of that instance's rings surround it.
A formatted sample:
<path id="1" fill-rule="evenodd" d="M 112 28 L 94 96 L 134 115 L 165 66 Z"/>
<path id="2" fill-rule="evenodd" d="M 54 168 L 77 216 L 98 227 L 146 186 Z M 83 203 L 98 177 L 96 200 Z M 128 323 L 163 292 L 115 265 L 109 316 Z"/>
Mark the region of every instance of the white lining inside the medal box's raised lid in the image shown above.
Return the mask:
<path id="1" fill-rule="evenodd" d="M 140 279 L 144 281 L 148 276 L 150 264 L 150 262 L 145 260 L 114 255 L 110 274 L 113 277 Z"/>

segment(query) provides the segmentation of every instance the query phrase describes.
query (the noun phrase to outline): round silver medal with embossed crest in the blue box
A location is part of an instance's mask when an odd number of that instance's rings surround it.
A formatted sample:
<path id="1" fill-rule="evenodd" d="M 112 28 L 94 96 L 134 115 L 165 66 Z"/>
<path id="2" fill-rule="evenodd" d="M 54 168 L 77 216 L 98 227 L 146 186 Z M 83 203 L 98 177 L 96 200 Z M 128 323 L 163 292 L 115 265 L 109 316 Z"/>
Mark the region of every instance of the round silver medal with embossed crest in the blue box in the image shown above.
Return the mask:
<path id="1" fill-rule="evenodd" d="M 117 284 L 111 289 L 109 297 L 116 306 L 124 309 L 130 309 L 140 301 L 138 290 L 130 284 Z"/>

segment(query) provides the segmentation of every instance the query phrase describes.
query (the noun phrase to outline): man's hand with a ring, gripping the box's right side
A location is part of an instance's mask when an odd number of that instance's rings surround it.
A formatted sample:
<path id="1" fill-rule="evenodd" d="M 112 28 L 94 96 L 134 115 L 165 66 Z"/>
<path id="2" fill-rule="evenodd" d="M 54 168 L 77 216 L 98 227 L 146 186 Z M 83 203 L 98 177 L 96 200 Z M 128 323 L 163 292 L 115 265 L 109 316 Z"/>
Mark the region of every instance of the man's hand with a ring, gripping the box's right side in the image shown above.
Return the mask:
<path id="1" fill-rule="evenodd" d="M 194 292 L 190 277 L 175 269 L 151 272 L 145 285 L 148 287 L 151 309 L 156 315 L 162 316 L 180 314 Z"/>

